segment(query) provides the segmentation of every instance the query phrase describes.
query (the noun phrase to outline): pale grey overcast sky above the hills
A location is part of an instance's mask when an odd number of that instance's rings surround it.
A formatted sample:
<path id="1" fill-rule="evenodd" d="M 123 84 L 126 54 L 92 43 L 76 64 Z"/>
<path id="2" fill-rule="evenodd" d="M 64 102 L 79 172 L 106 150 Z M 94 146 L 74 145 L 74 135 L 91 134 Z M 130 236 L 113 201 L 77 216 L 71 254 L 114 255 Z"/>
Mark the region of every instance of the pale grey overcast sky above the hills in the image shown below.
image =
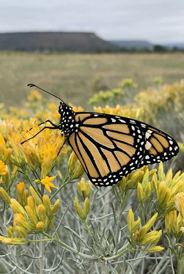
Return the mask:
<path id="1" fill-rule="evenodd" d="M 0 0 L 0 32 L 27 31 L 183 42 L 184 0 Z"/>

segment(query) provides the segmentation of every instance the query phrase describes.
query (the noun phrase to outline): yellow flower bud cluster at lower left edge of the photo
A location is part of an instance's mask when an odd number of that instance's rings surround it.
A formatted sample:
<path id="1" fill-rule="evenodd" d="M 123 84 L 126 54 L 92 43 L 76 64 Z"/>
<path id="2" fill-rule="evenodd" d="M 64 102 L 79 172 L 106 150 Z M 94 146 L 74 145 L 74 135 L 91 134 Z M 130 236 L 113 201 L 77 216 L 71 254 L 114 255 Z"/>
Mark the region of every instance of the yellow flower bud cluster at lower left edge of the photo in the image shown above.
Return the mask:
<path id="1" fill-rule="evenodd" d="M 24 182 L 16 186 L 19 201 L 11 199 L 8 193 L 0 188 L 1 197 L 14 212 L 13 225 L 6 228 L 8 237 L 1 236 L 0 238 L 1 242 L 8 245 L 23 245 L 28 242 L 29 234 L 46 232 L 51 229 L 54 215 L 60 206 L 59 199 L 53 206 L 51 206 L 48 195 L 43 195 L 41 199 L 32 186 L 29 188 L 31 193 L 29 196 L 29 191 L 24 186 Z"/>

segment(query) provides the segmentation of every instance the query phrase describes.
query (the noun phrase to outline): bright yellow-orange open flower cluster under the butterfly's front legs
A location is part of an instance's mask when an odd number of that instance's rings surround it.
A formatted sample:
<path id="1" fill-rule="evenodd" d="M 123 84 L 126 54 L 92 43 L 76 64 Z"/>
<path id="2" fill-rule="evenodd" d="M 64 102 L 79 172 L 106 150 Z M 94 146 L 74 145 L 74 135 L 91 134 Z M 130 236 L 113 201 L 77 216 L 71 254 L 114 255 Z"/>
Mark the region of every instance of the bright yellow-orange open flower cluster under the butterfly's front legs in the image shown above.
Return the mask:
<path id="1" fill-rule="evenodd" d="M 20 132 L 12 132 L 8 135 L 8 141 L 14 151 L 10 157 L 12 164 L 21 167 L 27 163 L 32 171 L 36 171 L 38 166 L 41 177 L 44 178 L 49 175 L 57 162 L 58 151 L 62 147 L 64 137 L 56 130 L 45 129 L 35 138 L 21 145 L 23 140 L 31 138 L 39 130 L 38 125 L 35 125 L 32 130 L 22 132 L 24 139 L 21 138 Z M 66 152 L 66 149 L 67 147 L 64 147 L 62 152 Z"/>

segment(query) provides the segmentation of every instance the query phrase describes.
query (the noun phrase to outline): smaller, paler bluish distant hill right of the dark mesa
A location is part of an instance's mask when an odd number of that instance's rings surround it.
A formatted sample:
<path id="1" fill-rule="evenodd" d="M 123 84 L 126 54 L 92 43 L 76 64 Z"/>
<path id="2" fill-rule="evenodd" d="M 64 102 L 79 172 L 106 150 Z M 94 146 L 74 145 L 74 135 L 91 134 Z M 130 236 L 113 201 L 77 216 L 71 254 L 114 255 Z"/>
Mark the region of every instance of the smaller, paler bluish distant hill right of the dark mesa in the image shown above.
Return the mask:
<path id="1" fill-rule="evenodd" d="M 127 50 L 148 49 L 149 51 L 152 51 L 154 49 L 154 45 L 144 40 L 108 40 L 108 42 L 111 42 L 112 45 Z"/>

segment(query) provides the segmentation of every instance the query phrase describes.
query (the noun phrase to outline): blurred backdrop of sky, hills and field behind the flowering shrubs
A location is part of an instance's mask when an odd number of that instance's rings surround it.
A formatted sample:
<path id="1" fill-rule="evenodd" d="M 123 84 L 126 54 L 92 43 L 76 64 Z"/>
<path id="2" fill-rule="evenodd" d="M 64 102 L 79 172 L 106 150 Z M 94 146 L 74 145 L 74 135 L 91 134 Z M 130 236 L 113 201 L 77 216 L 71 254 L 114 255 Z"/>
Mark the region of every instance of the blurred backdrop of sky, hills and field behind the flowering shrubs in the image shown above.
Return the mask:
<path id="1" fill-rule="evenodd" d="M 182 0 L 1 0 L 0 101 L 20 105 L 33 82 L 90 108 L 123 79 L 137 92 L 180 81 L 183 12 Z"/>

